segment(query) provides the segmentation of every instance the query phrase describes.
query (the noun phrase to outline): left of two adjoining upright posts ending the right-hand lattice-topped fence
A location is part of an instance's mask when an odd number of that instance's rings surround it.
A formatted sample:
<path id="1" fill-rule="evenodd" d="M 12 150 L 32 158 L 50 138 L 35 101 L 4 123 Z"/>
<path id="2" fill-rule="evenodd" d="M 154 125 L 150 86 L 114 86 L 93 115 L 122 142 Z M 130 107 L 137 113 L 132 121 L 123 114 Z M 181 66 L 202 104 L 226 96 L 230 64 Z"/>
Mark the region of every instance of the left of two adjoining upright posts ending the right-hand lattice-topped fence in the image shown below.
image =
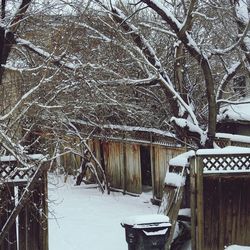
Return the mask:
<path id="1" fill-rule="evenodd" d="M 196 248 L 196 158 L 190 159 L 191 247 Z"/>

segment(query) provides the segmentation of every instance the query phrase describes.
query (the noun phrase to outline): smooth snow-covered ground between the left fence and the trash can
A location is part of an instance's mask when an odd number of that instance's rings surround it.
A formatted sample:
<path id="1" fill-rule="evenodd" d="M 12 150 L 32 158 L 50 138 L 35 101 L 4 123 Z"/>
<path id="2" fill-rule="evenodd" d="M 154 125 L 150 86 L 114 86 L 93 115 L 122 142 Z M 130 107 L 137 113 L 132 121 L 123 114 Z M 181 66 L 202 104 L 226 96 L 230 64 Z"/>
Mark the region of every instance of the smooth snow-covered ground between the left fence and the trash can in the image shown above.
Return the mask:
<path id="1" fill-rule="evenodd" d="M 132 197 L 117 192 L 102 194 L 93 185 L 74 186 L 68 177 L 49 177 L 50 250 L 127 250 L 124 218 L 156 214 L 152 194 Z"/>

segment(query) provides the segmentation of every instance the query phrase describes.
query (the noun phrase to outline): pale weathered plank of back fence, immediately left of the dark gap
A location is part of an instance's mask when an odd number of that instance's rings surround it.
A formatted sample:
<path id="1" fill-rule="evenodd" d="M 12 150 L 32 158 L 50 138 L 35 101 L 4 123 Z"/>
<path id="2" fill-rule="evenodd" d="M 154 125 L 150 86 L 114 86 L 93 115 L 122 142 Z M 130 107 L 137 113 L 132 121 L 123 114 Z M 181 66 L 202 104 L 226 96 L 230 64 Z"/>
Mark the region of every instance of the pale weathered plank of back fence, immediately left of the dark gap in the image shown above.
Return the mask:
<path id="1" fill-rule="evenodd" d="M 126 144 L 126 188 L 127 191 L 142 192 L 140 145 Z"/>

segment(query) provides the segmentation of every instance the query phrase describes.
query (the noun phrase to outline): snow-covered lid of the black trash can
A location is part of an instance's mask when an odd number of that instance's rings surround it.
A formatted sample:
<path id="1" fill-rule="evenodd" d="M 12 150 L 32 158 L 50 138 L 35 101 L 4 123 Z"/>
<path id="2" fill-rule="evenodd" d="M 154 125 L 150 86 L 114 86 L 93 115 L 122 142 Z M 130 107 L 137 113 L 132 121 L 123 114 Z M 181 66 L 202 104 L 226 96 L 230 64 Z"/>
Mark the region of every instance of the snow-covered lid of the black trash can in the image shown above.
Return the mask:
<path id="1" fill-rule="evenodd" d="M 169 217 L 164 214 L 146 214 L 129 216 L 122 221 L 122 226 L 128 225 L 133 228 L 146 227 L 169 227 Z"/>

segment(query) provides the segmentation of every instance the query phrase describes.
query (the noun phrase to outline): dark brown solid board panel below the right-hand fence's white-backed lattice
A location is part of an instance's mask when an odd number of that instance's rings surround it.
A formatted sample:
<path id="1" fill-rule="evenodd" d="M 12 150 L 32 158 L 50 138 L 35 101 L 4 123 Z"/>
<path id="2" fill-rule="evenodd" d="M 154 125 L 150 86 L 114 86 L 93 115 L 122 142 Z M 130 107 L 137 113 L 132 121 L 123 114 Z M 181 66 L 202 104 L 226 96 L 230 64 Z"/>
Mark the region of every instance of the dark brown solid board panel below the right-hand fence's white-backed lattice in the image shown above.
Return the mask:
<path id="1" fill-rule="evenodd" d="M 204 249 L 250 246 L 250 178 L 204 178 Z"/>

